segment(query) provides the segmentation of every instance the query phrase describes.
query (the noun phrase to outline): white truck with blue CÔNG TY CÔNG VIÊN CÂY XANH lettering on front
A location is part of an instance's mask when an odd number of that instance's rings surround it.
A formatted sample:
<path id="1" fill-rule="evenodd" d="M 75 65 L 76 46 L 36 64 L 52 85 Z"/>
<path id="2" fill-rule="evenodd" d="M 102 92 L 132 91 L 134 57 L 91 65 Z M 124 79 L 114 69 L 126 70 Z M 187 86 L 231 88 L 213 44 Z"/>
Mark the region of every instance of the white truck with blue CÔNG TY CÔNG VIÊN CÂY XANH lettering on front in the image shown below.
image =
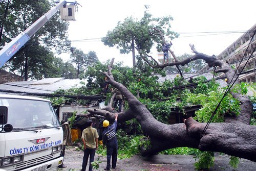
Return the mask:
<path id="1" fill-rule="evenodd" d="M 49 100 L 0 94 L 0 170 L 57 167 L 63 131 Z"/>

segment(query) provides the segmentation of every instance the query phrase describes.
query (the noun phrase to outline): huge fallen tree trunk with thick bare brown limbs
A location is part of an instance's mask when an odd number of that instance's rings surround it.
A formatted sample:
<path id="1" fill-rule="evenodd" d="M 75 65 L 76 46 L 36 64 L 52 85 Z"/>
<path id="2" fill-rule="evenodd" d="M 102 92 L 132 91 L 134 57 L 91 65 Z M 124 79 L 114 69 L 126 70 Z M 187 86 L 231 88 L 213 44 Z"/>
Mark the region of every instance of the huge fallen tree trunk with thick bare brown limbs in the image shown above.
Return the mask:
<path id="1" fill-rule="evenodd" d="M 194 47 L 191 46 L 193 49 Z M 204 59 L 208 65 L 219 66 L 221 69 L 217 72 L 224 72 L 228 83 L 231 84 L 234 71 L 229 65 L 214 56 L 207 56 L 197 53 L 184 61 L 176 61 L 169 63 L 169 66 L 185 65 L 190 61 Z M 211 123 L 207 130 L 203 133 L 206 123 L 198 123 L 192 117 L 185 121 L 185 124 L 166 125 L 156 120 L 146 106 L 140 103 L 136 97 L 127 90 L 122 84 L 116 82 L 111 73 L 111 65 L 108 72 L 104 75 L 108 77 L 109 83 L 118 88 L 129 104 L 129 109 L 118 114 L 118 121 L 123 122 L 136 118 L 141 125 L 144 133 L 149 135 L 151 147 L 141 150 L 142 155 L 152 155 L 160 151 L 187 146 L 196 148 L 201 151 L 222 152 L 228 155 L 245 158 L 251 161 L 256 161 L 256 127 L 249 126 L 252 113 L 252 104 L 247 96 L 239 93 L 232 94 L 241 102 L 241 111 L 238 117 L 226 119 L 228 123 Z M 162 67 L 162 65 L 159 65 Z M 235 83 L 238 83 L 236 80 Z M 88 115 L 102 115 L 113 121 L 113 110 L 108 107 L 104 110 L 88 110 Z"/>

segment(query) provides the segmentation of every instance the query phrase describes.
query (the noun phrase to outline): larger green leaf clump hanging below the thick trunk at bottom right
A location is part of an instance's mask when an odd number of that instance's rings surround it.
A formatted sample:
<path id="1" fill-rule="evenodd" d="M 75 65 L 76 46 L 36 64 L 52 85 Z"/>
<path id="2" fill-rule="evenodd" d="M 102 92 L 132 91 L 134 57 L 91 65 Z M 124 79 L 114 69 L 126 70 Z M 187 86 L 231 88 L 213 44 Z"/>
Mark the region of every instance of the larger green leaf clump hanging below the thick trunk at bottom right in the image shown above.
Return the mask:
<path id="1" fill-rule="evenodd" d="M 197 158 L 199 160 L 197 161 Z M 195 166 L 198 170 L 208 169 L 214 165 L 214 153 L 213 152 L 202 152 L 196 157 Z"/>

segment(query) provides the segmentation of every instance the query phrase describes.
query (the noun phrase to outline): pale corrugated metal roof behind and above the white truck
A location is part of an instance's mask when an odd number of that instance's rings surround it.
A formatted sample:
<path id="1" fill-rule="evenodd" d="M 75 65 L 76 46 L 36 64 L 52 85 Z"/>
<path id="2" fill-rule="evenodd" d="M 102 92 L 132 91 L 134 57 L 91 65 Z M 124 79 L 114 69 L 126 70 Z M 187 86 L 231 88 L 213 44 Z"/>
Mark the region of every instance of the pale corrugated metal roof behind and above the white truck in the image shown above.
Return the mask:
<path id="1" fill-rule="evenodd" d="M 51 78 L 42 79 L 38 81 L 22 81 L 22 82 L 7 82 L 0 84 L 1 90 L 22 91 L 30 93 L 53 93 L 58 89 L 70 89 L 74 87 L 81 87 L 80 82 L 86 82 L 80 79 L 63 79 L 63 78 Z"/>

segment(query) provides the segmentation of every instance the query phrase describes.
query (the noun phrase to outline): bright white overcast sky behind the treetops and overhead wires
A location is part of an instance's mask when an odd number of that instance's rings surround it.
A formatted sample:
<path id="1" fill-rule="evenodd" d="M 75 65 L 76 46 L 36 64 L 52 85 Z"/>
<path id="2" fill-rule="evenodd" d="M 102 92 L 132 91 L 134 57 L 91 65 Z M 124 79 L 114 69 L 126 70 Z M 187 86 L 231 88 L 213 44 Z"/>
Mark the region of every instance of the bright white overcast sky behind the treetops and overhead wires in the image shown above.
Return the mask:
<path id="1" fill-rule="evenodd" d="M 109 30 L 113 30 L 117 22 L 123 21 L 126 17 L 133 16 L 140 19 L 145 10 L 144 5 L 150 6 L 149 12 L 153 17 L 172 16 L 173 31 L 197 33 L 180 34 L 180 38 L 172 41 L 171 48 L 176 56 L 184 53 L 192 54 L 189 43 L 195 44 L 198 52 L 219 55 L 243 33 L 216 32 L 247 31 L 256 23 L 254 0 L 78 0 L 77 2 L 82 7 L 78 6 L 76 21 L 70 21 L 69 39 L 72 40 L 72 46 L 84 53 L 95 51 L 101 62 L 114 57 L 115 61 L 123 61 L 124 65 L 128 66 L 132 66 L 131 54 L 123 55 L 115 47 L 104 46 L 100 38 Z M 202 36 L 200 32 L 210 33 Z M 155 48 L 152 51 L 154 52 Z M 65 61 L 69 60 L 69 54 L 62 54 L 61 57 Z"/>

